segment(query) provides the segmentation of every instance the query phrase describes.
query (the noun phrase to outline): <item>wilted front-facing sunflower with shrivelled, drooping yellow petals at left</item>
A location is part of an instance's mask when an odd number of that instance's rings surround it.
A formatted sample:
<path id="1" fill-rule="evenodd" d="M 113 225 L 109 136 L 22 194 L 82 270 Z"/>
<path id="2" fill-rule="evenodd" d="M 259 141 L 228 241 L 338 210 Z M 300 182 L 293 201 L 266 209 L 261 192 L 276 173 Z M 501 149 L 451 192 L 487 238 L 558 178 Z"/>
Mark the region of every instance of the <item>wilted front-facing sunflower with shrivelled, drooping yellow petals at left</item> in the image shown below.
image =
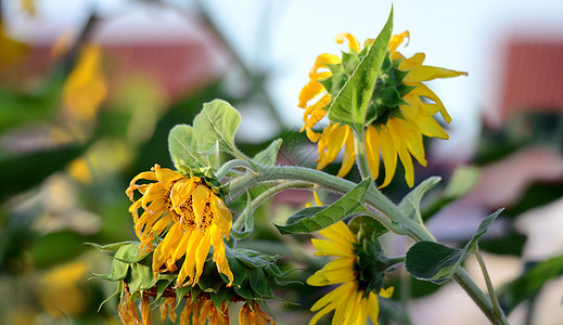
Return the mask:
<path id="1" fill-rule="evenodd" d="M 139 180 L 154 182 L 137 184 Z M 136 190 L 142 194 L 137 200 L 133 199 Z M 151 171 L 135 177 L 126 193 L 133 203 L 129 211 L 141 240 L 141 251 L 152 251 L 155 236 L 164 234 L 154 250 L 154 272 L 174 272 L 178 270 L 176 262 L 184 257 L 177 286 L 195 285 L 213 246 L 213 261 L 229 278 L 228 286 L 232 284 L 223 243 L 223 237 L 229 240 L 231 212 L 203 179 L 188 178 L 155 165 Z M 139 217 L 141 208 L 143 212 Z"/>

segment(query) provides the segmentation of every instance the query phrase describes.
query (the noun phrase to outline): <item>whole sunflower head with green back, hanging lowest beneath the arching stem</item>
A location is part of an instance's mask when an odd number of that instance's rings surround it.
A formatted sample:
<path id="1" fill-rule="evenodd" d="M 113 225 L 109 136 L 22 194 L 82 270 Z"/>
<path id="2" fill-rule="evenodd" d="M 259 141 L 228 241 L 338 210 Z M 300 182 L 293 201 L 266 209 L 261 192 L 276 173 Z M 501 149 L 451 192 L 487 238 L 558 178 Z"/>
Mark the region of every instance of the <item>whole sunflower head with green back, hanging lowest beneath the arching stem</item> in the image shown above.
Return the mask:
<path id="1" fill-rule="evenodd" d="M 336 259 L 307 278 L 307 284 L 325 286 L 340 284 L 319 299 L 311 311 L 318 311 L 309 324 L 335 310 L 332 324 L 366 324 L 368 316 L 378 324 L 378 295 L 389 298 L 393 287 L 383 288 L 389 263 L 374 235 L 361 237 L 343 222 L 336 222 L 319 232 L 327 239 L 311 239 L 317 256 Z"/>

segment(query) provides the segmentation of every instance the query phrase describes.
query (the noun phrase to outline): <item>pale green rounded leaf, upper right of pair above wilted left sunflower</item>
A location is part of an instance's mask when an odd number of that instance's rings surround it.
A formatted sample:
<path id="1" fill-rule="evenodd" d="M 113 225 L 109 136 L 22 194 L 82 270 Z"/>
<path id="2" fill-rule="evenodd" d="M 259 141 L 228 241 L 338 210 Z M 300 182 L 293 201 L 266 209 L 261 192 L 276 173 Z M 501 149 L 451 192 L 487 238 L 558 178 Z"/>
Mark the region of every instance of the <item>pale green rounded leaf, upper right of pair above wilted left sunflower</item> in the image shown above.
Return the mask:
<path id="1" fill-rule="evenodd" d="M 213 151 L 218 143 L 221 150 L 238 153 L 234 133 L 240 125 L 239 112 L 221 100 L 203 104 L 202 112 L 193 119 L 193 129 L 202 151 Z"/>

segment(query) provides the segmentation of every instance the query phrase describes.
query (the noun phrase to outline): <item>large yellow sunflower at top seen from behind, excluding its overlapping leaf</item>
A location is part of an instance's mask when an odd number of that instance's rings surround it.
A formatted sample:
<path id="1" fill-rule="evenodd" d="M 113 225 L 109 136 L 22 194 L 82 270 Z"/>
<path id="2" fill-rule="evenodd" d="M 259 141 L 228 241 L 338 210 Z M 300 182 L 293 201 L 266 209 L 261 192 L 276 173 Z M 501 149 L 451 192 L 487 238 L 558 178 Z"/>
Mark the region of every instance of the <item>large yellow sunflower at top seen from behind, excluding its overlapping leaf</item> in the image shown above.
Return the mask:
<path id="1" fill-rule="evenodd" d="M 380 156 L 383 159 L 385 179 L 381 186 L 386 186 L 393 179 L 397 156 L 405 167 L 407 184 L 412 186 L 414 171 L 411 156 L 420 165 L 426 166 L 422 135 L 448 139 L 448 133 L 433 116 L 440 113 L 446 122 L 450 122 L 451 118 L 438 96 L 423 81 L 466 75 L 423 65 L 424 53 L 405 57 L 397 52 L 397 48 L 408 37 L 408 31 L 392 36 L 368 106 L 370 125 L 367 126 L 364 139 L 368 166 L 375 180 L 380 170 Z M 333 121 L 321 133 L 315 132 L 312 128 L 327 115 L 329 104 L 368 53 L 369 47 L 364 46 L 362 50 L 350 34 L 336 36 L 337 43 L 343 43 L 345 39 L 349 52 L 343 53 L 342 58 L 328 53 L 317 57 L 309 73 L 310 81 L 302 89 L 298 103 L 299 107 L 305 108 L 302 131 L 306 130 L 309 140 L 318 142 L 317 169 L 323 169 L 332 162 L 344 147 L 344 161 L 338 177 L 346 176 L 354 166 L 356 152 L 353 130 Z M 373 43 L 373 40 L 368 40 L 368 43 Z"/>

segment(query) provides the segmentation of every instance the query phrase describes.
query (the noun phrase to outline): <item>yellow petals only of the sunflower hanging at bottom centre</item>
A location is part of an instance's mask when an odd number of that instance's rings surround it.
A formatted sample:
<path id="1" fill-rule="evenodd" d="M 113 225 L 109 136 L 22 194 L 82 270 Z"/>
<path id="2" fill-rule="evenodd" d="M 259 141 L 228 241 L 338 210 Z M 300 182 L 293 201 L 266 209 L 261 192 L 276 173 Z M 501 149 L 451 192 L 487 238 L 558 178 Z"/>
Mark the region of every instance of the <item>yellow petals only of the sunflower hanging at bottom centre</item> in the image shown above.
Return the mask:
<path id="1" fill-rule="evenodd" d="M 317 271 L 307 278 L 307 284 L 311 286 L 327 286 L 340 284 L 331 292 L 319 299 L 311 311 L 318 312 L 309 322 L 316 324 L 324 314 L 335 310 L 332 324 L 354 324 L 363 325 L 368 316 L 373 324 L 378 324 L 379 303 L 378 295 L 373 291 L 374 287 L 368 285 L 360 276 L 358 264 L 361 245 L 348 229 L 340 221 L 319 233 L 327 239 L 311 239 L 312 245 L 318 251 L 316 256 L 335 256 L 335 260 L 329 262 L 324 268 Z M 379 295 L 389 298 L 393 287 L 381 288 Z"/>

